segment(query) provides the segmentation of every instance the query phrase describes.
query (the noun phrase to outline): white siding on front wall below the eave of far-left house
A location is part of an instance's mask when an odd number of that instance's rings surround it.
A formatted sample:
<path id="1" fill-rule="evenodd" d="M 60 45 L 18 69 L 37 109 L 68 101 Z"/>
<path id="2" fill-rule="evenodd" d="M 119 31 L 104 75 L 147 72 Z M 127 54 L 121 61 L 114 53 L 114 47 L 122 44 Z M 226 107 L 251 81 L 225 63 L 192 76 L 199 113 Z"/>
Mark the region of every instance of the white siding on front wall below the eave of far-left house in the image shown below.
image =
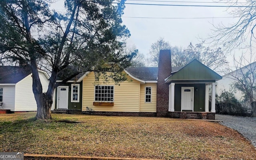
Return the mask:
<path id="1" fill-rule="evenodd" d="M 14 111 L 15 85 L 0 85 L 0 87 L 3 87 L 3 109 Z"/>

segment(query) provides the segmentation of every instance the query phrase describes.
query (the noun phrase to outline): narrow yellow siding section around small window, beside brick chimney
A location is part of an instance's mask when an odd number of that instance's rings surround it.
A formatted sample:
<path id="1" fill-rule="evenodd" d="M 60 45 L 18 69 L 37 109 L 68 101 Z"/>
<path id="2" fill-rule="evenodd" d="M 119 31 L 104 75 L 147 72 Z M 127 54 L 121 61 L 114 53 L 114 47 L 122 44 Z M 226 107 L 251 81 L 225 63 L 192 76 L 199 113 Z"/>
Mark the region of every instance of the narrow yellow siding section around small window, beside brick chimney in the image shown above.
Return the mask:
<path id="1" fill-rule="evenodd" d="M 145 102 L 145 87 L 151 87 L 151 103 Z M 140 85 L 140 112 L 156 112 L 156 83 Z"/>

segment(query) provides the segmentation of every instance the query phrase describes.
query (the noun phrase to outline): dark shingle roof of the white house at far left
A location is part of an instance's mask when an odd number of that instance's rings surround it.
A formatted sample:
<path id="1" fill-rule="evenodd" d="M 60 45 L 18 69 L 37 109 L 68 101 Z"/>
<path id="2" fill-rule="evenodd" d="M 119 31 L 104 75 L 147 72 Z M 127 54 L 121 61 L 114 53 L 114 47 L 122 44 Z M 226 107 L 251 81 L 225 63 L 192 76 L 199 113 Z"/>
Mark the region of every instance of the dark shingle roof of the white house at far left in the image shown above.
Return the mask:
<path id="1" fill-rule="evenodd" d="M 0 83 L 18 83 L 30 73 L 28 67 L 0 66 Z"/>

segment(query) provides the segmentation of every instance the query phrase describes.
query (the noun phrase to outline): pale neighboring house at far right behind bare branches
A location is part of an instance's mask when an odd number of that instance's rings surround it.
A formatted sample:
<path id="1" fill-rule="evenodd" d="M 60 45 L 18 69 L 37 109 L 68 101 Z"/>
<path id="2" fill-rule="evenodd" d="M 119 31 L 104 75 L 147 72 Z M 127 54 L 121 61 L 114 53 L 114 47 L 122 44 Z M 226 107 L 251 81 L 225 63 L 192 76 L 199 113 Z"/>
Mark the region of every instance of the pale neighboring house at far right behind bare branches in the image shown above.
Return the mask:
<path id="1" fill-rule="evenodd" d="M 235 71 L 232 71 L 226 75 L 222 76 L 222 79 L 218 80 L 216 83 L 216 94 L 219 96 L 222 91 L 231 91 L 231 85 L 234 82 L 237 82 L 238 80 L 235 77 L 242 77 L 242 74 L 245 74 L 249 70 L 255 71 L 256 72 L 256 62 L 253 62 L 249 65 L 246 65 L 244 67 L 241 67 Z M 255 73 L 256 75 L 256 73 Z M 256 80 L 254 80 L 256 83 Z M 234 92 L 234 96 L 236 97 L 237 100 L 242 100 L 243 99 L 243 93 L 239 90 L 236 90 Z"/>

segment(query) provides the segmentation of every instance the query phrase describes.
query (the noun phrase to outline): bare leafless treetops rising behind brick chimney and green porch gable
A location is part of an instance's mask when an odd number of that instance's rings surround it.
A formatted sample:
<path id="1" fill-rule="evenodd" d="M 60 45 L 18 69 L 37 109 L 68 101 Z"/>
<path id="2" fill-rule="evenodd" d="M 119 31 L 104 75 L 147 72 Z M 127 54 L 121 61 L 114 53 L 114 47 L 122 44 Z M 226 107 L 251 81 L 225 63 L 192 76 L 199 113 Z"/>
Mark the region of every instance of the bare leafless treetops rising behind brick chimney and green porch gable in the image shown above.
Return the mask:
<path id="1" fill-rule="evenodd" d="M 190 43 L 186 49 L 182 47 L 172 47 L 168 41 L 164 41 L 160 38 L 155 43 L 152 43 L 150 49 L 150 65 L 158 65 L 158 57 L 161 49 L 170 49 L 172 58 L 172 67 L 184 67 L 193 59 L 197 59 L 207 67 L 217 72 L 226 72 L 228 61 L 226 60 L 226 54 L 220 47 L 210 48 L 205 47 L 204 42 L 193 45 Z"/>

